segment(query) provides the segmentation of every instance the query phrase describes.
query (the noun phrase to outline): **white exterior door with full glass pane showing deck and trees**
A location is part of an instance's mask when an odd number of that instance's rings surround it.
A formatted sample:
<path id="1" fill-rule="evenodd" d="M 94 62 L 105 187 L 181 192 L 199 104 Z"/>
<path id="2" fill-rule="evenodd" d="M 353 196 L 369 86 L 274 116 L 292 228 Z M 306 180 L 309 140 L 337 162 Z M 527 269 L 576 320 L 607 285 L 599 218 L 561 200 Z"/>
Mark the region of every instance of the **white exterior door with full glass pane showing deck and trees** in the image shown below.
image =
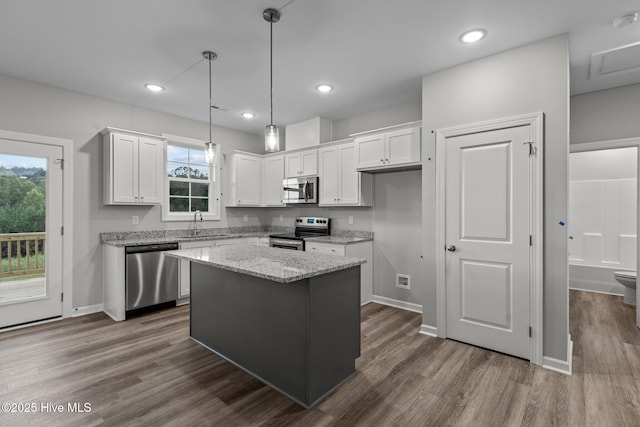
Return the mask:
<path id="1" fill-rule="evenodd" d="M 62 157 L 0 139 L 0 328 L 62 316 Z"/>

